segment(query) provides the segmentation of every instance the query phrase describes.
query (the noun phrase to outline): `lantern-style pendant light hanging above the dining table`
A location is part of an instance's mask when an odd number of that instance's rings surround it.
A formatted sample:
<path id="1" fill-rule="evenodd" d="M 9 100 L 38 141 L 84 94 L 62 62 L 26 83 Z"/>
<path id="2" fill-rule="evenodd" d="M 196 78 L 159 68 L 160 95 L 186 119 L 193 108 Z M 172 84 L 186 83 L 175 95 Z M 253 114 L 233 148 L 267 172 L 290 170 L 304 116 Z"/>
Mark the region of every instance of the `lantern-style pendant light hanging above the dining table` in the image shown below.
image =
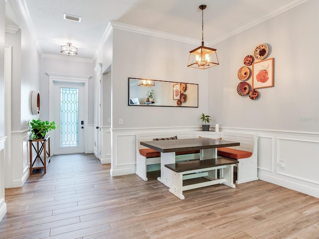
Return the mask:
<path id="1" fill-rule="evenodd" d="M 189 53 L 188 67 L 207 69 L 219 65 L 216 49 L 204 46 L 204 9 L 206 5 L 200 5 L 201 9 L 201 46 Z"/>

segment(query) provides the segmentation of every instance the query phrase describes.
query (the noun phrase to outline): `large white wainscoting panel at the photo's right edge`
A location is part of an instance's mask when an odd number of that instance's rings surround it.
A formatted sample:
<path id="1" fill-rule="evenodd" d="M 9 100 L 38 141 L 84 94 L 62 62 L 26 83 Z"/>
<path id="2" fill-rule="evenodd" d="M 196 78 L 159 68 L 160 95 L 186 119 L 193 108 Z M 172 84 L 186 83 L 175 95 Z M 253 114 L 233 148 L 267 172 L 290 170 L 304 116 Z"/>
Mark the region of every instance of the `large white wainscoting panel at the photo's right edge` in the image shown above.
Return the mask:
<path id="1" fill-rule="evenodd" d="M 277 147 L 278 174 L 319 184 L 319 142 L 278 138 Z"/>

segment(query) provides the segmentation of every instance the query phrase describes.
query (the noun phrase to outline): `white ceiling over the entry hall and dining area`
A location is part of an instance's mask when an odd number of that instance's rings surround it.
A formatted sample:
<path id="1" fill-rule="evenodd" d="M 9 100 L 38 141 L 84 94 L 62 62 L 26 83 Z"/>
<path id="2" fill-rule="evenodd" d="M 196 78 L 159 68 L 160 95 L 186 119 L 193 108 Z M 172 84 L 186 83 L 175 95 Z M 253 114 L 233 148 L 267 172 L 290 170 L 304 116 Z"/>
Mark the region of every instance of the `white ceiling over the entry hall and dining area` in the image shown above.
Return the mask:
<path id="1" fill-rule="evenodd" d="M 211 46 L 306 0 L 17 1 L 41 55 L 61 55 L 60 46 L 71 42 L 78 47 L 78 55 L 72 57 L 94 60 L 110 21 L 168 33 L 166 37 L 181 36 L 186 42 L 196 40 L 200 44 L 198 6 L 206 4 L 204 41 Z M 82 20 L 65 20 L 64 13 L 80 16 Z M 16 21 L 10 10 L 6 10 L 6 15 L 8 22 Z"/>

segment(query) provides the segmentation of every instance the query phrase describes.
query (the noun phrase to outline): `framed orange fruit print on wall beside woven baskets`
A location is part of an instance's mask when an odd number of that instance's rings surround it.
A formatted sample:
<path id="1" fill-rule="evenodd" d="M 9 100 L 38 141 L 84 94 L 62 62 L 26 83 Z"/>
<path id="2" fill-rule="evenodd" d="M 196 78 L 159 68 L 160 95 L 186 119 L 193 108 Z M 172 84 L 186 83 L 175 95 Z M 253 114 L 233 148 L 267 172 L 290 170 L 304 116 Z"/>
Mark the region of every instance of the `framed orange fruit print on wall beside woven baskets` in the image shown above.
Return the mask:
<path id="1" fill-rule="evenodd" d="M 274 58 L 253 63 L 252 89 L 274 86 Z"/>

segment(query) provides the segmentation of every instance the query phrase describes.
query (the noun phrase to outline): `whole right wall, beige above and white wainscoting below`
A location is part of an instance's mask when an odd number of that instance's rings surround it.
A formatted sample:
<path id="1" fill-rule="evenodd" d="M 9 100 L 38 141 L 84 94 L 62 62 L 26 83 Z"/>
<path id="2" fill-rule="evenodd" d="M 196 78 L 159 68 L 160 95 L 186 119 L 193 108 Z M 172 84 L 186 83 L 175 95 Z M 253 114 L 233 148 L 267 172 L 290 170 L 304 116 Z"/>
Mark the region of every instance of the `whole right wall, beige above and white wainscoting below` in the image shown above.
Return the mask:
<path id="1" fill-rule="evenodd" d="M 221 129 L 259 135 L 260 179 L 319 197 L 317 9 L 319 1 L 308 0 L 213 45 L 220 65 L 209 71 L 208 102 Z M 237 94 L 237 72 L 260 43 L 275 58 L 274 87 L 257 89 L 253 101 Z"/>

